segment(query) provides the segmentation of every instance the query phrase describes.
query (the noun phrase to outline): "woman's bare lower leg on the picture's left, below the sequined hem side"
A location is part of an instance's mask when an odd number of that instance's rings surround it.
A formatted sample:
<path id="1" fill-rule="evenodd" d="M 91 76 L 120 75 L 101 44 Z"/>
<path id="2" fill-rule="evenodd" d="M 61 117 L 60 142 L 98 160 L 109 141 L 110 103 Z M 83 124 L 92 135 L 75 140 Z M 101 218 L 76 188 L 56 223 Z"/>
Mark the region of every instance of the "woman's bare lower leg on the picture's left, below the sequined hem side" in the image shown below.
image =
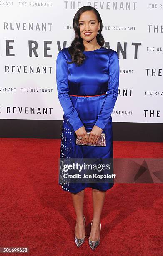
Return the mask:
<path id="1" fill-rule="evenodd" d="M 77 238 L 85 237 L 85 221 L 83 217 L 84 189 L 77 194 L 71 193 L 73 206 L 76 212 L 75 236 Z"/>

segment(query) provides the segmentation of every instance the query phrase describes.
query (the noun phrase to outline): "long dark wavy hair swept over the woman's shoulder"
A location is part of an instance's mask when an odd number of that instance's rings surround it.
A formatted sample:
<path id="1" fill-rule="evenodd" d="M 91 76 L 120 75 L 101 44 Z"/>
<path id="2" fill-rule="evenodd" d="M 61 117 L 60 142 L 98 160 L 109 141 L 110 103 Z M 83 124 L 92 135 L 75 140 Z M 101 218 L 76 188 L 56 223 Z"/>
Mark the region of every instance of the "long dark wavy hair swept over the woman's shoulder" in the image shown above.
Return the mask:
<path id="1" fill-rule="evenodd" d="M 104 45 L 104 38 L 101 35 L 101 31 L 103 28 L 103 23 L 100 17 L 99 12 L 92 6 L 86 5 L 86 6 L 82 6 L 77 13 L 75 14 L 74 18 L 73 18 L 73 29 L 75 31 L 75 38 L 73 39 L 73 41 L 71 42 L 71 45 L 68 47 L 68 51 L 71 55 L 72 61 L 69 62 L 67 61 L 68 64 L 71 63 L 76 63 L 78 66 L 80 64 L 83 63 L 83 61 L 86 59 L 85 54 L 83 54 L 83 51 L 85 50 L 85 47 L 83 45 L 83 39 L 80 37 L 80 26 L 79 26 L 79 19 L 80 19 L 80 15 L 85 12 L 85 11 L 90 11 L 93 10 L 96 18 L 98 21 L 100 21 L 100 33 L 97 34 L 96 38 L 97 38 L 97 42 L 100 46 Z"/>

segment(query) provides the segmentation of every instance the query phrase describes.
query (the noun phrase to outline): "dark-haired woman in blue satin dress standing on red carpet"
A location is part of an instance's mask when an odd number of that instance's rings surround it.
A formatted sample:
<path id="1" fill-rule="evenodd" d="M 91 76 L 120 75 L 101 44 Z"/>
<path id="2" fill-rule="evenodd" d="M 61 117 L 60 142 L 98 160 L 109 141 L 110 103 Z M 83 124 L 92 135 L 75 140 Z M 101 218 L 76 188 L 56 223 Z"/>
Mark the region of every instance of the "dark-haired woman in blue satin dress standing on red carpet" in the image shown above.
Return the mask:
<path id="1" fill-rule="evenodd" d="M 56 60 L 58 99 L 63 108 L 60 158 L 113 158 L 112 118 L 118 97 L 119 60 L 112 49 L 103 47 L 102 20 L 91 6 L 81 7 L 74 16 L 75 38 Z M 89 96 L 89 97 L 85 97 Z M 87 132 L 90 132 L 88 137 Z M 106 146 L 87 146 L 106 134 Z M 76 145 L 76 138 L 85 145 Z M 84 189 L 92 188 L 93 220 L 88 238 L 94 250 L 100 243 L 100 216 L 105 194 L 113 183 L 60 183 L 72 195 L 76 213 L 75 243 L 85 241 Z"/>

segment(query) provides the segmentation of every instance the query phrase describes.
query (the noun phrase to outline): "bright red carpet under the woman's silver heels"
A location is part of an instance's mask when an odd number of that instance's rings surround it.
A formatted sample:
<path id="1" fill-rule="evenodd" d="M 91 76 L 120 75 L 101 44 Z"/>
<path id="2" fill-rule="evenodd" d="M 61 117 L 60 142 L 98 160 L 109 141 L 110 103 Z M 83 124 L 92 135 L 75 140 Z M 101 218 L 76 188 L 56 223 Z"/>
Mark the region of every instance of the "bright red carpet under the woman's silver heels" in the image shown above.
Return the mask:
<path id="1" fill-rule="evenodd" d="M 71 196 L 58 185 L 59 157 L 60 140 L 0 138 L 0 247 L 28 247 L 33 256 L 163 255 L 162 184 L 115 184 L 106 195 L 100 246 L 92 251 L 87 240 L 77 248 Z M 163 143 L 114 141 L 114 157 L 162 158 Z M 87 237 L 92 209 L 87 188 Z"/>

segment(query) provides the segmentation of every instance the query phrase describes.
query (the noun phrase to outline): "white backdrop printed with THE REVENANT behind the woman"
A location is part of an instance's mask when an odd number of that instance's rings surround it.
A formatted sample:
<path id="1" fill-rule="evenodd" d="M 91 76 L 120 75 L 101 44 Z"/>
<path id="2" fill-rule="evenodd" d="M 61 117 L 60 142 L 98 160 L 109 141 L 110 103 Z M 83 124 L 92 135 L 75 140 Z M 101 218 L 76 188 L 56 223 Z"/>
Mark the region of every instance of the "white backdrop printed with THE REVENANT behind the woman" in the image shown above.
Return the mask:
<path id="1" fill-rule="evenodd" d="M 163 1 L 0 1 L 0 119 L 62 120 L 55 62 L 84 5 L 118 52 L 116 122 L 163 123 Z"/>

